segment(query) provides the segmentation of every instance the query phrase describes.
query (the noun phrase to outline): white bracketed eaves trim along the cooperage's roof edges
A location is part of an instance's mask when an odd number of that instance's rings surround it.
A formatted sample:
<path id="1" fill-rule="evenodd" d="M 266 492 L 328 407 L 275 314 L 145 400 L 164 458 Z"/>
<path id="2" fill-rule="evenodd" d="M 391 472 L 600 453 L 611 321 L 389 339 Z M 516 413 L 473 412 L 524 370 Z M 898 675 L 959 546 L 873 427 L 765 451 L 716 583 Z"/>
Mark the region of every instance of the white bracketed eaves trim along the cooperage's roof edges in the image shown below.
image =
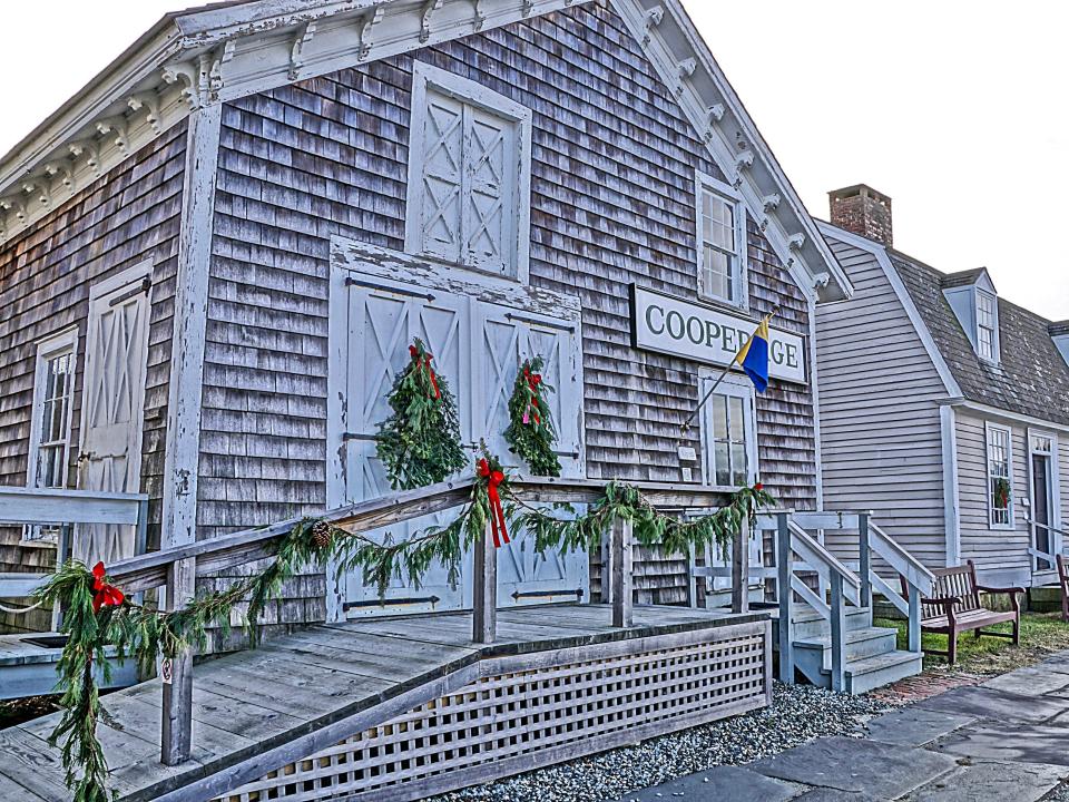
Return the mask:
<path id="1" fill-rule="evenodd" d="M 166 14 L 0 159 L 0 244 L 196 108 L 590 0 L 229 0 Z M 847 297 L 820 235 L 679 0 L 607 0 L 806 295 Z"/>

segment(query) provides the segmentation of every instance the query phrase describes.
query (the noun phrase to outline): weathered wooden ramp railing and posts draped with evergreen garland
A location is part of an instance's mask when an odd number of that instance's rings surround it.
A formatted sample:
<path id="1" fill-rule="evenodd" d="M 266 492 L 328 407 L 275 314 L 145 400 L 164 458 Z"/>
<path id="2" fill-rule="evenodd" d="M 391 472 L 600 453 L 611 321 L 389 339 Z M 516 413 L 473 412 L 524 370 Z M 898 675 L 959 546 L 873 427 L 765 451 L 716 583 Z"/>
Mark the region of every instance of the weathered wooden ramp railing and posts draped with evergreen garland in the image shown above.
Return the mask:
<path id="1" fill-rule="evenodd" d="M 591 503 L 604 497 L 605 481 L 592 479 L 517 478 L 510 491 L 527 503 Z M 726 505 L 720 490 L 667 483 L 636 483 L 646 499 L 664 510 L 710 509 Z M 331 510 L 323 517 L 350 532 L 366 532 L 463 505 L 471 495 L 472 480 L 449 481 L 389 497 L 361 501 Z M 154 551 L 108 567 L 112 581 L 127 593 L 166 587 L 168 608 L 185 604 L 198 575 L 213 574 L 271 557 L 279 539 L 301 519 L 281 521 L 212 540 Z M 610 537 L 609 587 L 612 625 L 630 626 L 631 531 L 629 524 L 616 527 Z M 489 534 L 474 546 L 472 640 L 492 643 L 497 630 L 497 549 Z M 160 760 L 176 765 L 189 759 L 193 741 L 193 654 L 169 666 L 170 681 L 163 685 Z"/>

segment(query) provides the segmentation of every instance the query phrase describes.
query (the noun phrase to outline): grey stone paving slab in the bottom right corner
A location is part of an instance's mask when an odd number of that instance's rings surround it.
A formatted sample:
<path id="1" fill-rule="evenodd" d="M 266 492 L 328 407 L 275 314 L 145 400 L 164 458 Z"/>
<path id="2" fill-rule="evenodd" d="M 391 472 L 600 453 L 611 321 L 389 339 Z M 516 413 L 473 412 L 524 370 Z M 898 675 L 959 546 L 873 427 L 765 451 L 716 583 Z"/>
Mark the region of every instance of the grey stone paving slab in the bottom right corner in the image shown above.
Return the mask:
<path id="1" fill-rule="evenodd" d="M 1066 773 L 1058 765 L 981 761 L 918 789 L 902 802 L 1036 802 Z"/>

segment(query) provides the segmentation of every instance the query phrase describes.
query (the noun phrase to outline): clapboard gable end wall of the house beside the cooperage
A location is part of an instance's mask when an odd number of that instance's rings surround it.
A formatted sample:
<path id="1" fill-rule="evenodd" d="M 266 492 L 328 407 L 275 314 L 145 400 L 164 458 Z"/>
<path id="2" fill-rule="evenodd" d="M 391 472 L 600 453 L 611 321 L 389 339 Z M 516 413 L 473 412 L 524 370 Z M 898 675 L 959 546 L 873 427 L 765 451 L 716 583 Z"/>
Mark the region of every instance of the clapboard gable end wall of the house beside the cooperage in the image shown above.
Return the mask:
<path id="1" fill-rule="evenodd" d="M 834 239 L 831 245 L 855 294 L 817 307 L 824 506 L 873 510 L 892 538 L 929 567 L 941 567 L 935 400 L 945 389 L 876 257 Z M 834 550 L 853 556 L 846 552 L 855 536 L 826 537 Z"/>

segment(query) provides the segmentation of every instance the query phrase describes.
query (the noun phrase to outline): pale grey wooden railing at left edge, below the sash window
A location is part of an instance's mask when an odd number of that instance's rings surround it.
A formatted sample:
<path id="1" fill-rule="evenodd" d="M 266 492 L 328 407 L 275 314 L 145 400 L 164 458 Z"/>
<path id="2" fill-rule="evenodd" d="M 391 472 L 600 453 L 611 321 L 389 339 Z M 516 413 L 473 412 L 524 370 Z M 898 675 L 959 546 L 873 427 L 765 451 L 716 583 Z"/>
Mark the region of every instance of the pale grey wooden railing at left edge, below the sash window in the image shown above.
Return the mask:
<path id="1" fill-rule="evenodd" d="M 79 524 L 134 526 L 135 554 L 145 551 L 148 496 L 90 490 L 0 487 L 0 524 L 59 528 L 57 561 L 70 552 Z M 0 598 L 23 598 L 48 579 L 47 574 L 0 574 Z"/>

